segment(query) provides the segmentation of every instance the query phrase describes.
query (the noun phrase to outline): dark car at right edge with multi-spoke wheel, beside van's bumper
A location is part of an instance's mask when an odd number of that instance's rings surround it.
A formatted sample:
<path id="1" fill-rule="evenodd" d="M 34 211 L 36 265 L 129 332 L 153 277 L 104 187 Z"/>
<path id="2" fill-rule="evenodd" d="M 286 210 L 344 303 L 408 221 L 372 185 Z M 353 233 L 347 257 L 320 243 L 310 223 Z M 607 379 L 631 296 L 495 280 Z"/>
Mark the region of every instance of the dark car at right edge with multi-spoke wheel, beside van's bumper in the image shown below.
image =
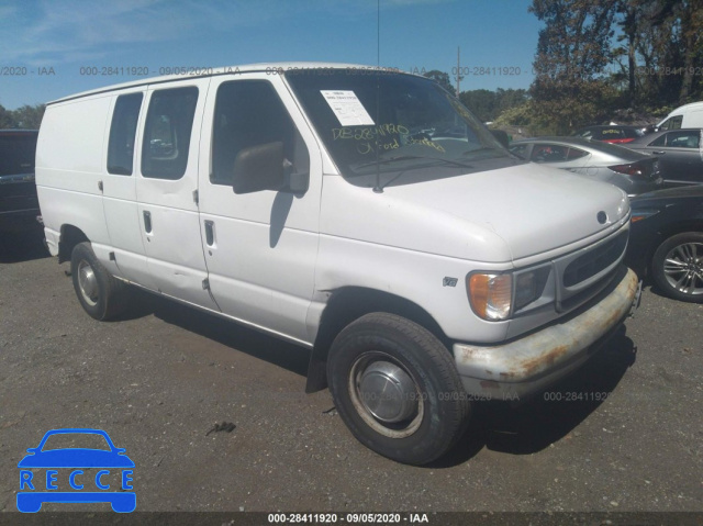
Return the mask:
<path id="1" fill-rule="evenodd" d="M 631 201 L 626 260 L 670 298 L 703 303 L 703 186 L 672 188 Z"/>

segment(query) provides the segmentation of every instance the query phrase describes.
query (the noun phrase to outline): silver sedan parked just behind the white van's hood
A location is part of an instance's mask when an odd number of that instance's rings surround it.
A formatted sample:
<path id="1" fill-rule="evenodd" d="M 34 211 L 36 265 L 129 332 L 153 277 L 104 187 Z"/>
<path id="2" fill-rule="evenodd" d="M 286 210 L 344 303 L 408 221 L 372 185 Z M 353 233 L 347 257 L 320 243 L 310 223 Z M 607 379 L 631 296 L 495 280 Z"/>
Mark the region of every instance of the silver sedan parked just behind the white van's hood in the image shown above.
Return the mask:
<path id="1" fill-rule="evenodd" d="M 657 157 L 614 144 L 581 137 L 536 137 L 515 141 L 510 150 L 533 163 L 610 182 L 628 195 L 661 188 Z"/>

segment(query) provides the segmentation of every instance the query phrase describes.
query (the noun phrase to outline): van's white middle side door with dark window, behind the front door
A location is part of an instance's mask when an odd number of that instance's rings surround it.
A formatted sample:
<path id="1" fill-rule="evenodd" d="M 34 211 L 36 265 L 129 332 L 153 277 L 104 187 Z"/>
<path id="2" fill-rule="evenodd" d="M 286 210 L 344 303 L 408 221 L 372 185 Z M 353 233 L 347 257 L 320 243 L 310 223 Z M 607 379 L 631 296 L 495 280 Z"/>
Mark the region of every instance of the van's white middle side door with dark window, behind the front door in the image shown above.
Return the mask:
<path id="1" fill-rule="evenodd" d="M 205 282 L 208 268 L 193 198 L 198 190 L 200 131 L 209 85 L 210 78 L 194 78 L 149 87 L 137 132 L 135 174 L 140 231 L 156 290 L 219 312 Z M 165 123 L 171 145 L 148 135 L 158 130 L 149 124 L 152 111 L 153 122 Z M 183 124 L 188 119 L 192 122 Z M 161 152 L 161 147 L 166 150 Z M 174 159 L 185 164 L 175 168 Z"/>

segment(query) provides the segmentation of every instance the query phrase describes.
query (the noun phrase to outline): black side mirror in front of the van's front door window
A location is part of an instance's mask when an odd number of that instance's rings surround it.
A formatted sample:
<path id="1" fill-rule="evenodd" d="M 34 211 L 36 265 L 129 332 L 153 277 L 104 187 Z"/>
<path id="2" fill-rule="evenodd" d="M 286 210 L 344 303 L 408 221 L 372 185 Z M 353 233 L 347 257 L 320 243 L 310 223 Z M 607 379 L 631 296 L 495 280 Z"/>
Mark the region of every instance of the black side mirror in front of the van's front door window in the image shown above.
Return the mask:
<path id="1" fill-rule="evenodd" d="M 268 143 L 244 148 L 234 160 L 234 193 L 280 190 L 286 183 L 283 143 Z"/>

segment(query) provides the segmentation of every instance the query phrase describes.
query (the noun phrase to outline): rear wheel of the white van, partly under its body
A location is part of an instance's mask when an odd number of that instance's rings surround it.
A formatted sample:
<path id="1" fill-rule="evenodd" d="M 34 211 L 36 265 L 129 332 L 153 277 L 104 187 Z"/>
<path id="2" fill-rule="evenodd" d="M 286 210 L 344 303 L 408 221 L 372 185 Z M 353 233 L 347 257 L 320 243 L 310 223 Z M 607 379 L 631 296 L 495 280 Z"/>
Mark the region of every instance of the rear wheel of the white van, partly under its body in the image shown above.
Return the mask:
<path id="1" fill-rule="evenodd" d="M 90 243 L 79 243 L 70 256 L 74 289 L 83 310 L 96 320 L 112 320 L 127 307 L 127 286 L 105 269 Z"/>

